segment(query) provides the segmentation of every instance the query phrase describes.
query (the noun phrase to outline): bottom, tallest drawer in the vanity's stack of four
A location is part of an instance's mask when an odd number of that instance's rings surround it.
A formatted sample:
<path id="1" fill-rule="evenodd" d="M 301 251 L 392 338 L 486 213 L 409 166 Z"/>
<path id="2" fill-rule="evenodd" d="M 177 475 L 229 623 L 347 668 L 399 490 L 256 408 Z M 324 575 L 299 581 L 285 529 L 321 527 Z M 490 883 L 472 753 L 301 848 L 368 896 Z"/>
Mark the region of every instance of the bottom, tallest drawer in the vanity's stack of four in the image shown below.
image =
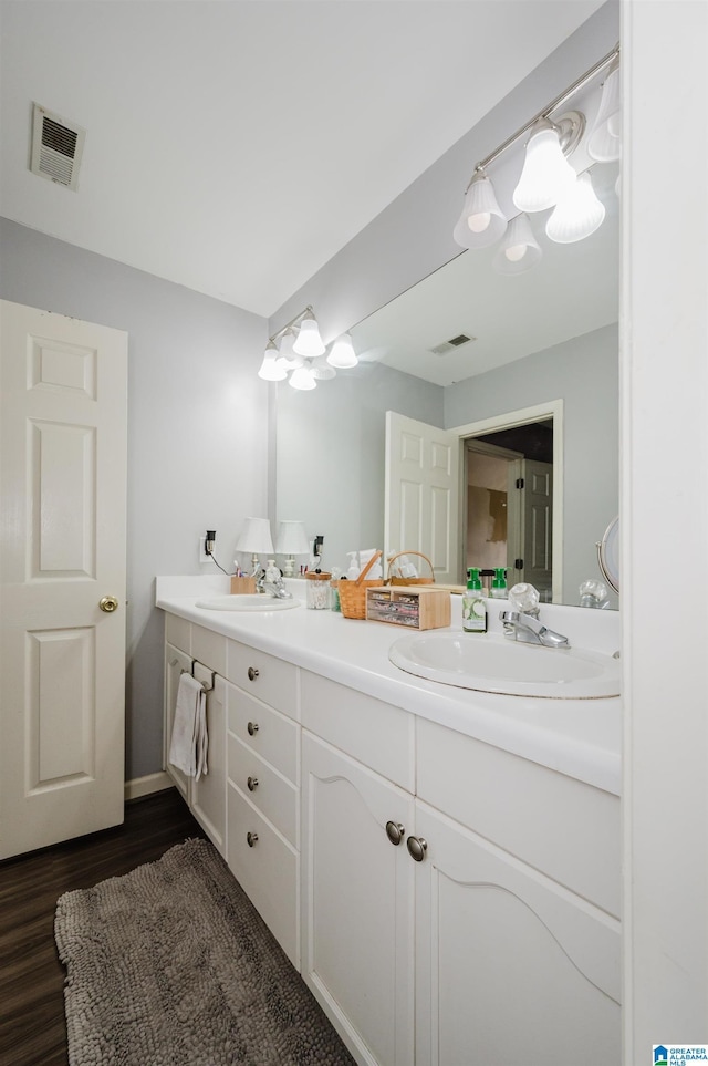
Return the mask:
<path id="1" fill-rule="evenodd" d="M 298 853 L 233 785 L 228 786 L 228 845 L 229 869 L 300 970 Z"/>

